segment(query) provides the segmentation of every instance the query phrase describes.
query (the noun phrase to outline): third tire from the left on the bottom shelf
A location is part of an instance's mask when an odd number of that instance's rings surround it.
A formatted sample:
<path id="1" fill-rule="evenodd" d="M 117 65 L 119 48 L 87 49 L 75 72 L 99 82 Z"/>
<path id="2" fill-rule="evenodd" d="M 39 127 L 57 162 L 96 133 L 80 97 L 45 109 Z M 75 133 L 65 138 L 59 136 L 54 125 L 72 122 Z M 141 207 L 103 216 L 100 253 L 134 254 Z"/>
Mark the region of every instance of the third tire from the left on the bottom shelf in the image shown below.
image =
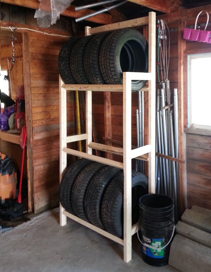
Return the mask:
<path id="1" fill-rule="evenodd" d="M 101 168 L 89 182 L 84 198 L 85 215 L 98 228 L 104 229 L 101 220 L 101 205 L 104 193 L 110 181 L 120 171 L 119 168 L 107 165 Z"/>

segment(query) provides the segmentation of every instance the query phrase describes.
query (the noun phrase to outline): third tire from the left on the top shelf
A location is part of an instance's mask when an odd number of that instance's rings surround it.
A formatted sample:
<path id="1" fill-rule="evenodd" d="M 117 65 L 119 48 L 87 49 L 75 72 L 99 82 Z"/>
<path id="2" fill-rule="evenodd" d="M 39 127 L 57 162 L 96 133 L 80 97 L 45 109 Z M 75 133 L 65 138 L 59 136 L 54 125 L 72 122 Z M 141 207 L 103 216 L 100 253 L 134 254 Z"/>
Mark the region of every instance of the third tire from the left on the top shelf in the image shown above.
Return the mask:
<path id="1" fill-rule="evenodd" d="M 101 33 L 90 40 L 84 51 L 84 70 L 90 83 L 106 84 L 100 70 L 99 53 L 101 45 L 109 33 Z"/>

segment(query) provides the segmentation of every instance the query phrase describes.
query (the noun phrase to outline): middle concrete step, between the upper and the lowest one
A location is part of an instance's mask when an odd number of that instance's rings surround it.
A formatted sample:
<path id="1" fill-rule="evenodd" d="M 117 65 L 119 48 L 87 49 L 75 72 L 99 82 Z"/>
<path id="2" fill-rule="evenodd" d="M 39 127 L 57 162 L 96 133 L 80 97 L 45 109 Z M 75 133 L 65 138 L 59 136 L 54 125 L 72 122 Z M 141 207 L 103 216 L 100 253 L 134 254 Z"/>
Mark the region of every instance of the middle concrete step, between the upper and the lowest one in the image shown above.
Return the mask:
<path id="1" fill-rule="evenodd" d="M 211 234 L 205 232 L 199 228 L 193 227 L 191 225 L 185 224 L 179 221 L 176 225 L 176 232 L 192 241 L 203 244 L 211 248 Z"/>

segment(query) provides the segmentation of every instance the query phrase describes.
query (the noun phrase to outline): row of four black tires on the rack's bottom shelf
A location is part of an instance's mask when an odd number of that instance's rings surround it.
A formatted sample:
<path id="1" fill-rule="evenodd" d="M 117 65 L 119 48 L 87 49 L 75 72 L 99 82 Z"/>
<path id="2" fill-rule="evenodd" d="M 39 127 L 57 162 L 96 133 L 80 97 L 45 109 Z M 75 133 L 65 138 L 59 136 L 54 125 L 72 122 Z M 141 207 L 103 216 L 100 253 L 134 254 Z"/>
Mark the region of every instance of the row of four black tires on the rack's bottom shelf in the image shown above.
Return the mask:
<path id="1" fill-rule="evenodd" d="M 147 194 L 147 184 L 147 176 L 132 172 L 132 225 L 138 222 L 138 202 Z M 62 177 L 60 202 L 71 214 L 122 238 L 123 185 L 123 170 L 79 159 Z"/>

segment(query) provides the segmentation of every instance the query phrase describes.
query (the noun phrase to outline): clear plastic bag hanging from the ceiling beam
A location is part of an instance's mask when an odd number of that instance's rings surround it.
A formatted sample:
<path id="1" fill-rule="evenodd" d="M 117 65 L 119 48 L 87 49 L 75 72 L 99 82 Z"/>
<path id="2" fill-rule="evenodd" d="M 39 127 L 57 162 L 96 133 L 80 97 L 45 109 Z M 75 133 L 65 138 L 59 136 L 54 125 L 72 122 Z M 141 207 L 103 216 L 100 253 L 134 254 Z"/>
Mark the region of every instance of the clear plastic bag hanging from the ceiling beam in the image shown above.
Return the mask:
<path id="1" fill-rule="evenodd" d="M 73 0 L 39 0 L 39 9 L 35 11 L 34 18 L 41 28 L 49 28 L 60 17 L 60 13 L 65 11 Z"/>

